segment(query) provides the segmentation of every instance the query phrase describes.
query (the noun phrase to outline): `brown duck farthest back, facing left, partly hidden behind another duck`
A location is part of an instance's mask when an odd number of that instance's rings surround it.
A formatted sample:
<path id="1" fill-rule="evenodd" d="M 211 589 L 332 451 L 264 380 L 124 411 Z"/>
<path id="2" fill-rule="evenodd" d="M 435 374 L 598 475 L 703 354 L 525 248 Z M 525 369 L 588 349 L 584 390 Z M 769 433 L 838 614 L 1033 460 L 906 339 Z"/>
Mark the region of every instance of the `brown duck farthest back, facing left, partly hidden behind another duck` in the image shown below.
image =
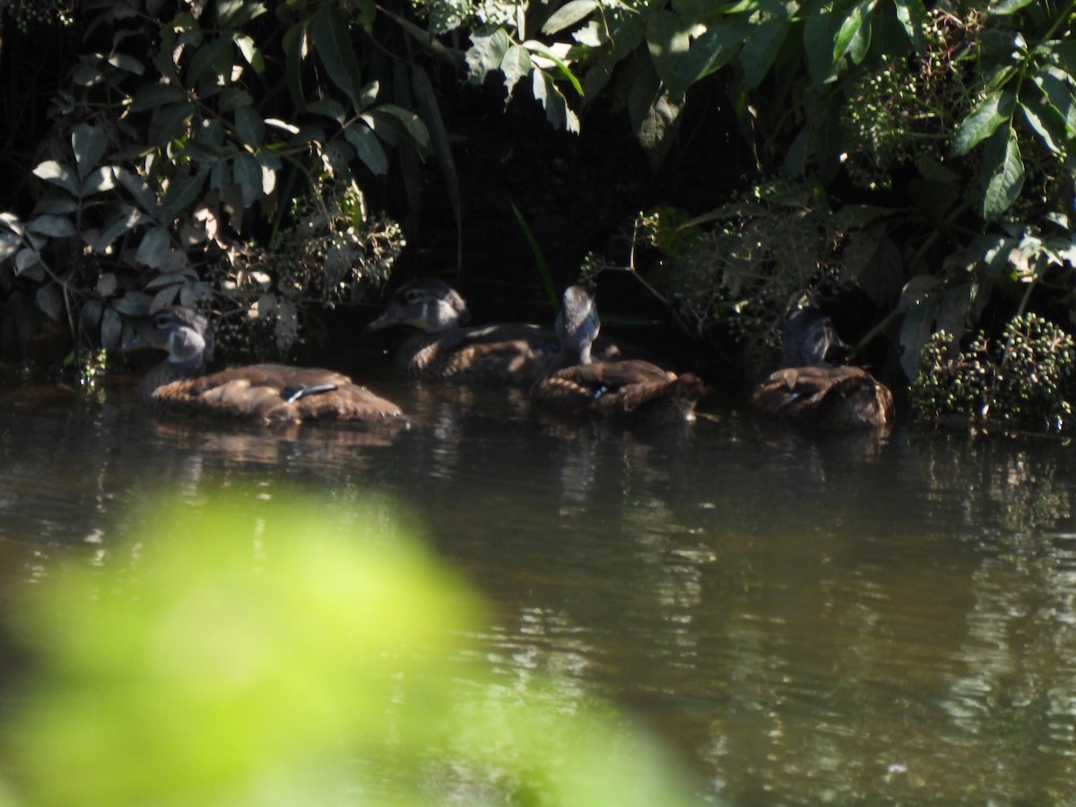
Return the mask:
<path id="1" fill-rule="evenodd" d="M 501 383 L 528 386 L 560 352 L 556 334 L 525 323 L 465 327 L 470 312 L 463 297 L 436 279 L 413 280 L 396 291 L 385 310 L 367 327 L 410 325 L 419 332 L 396 351 L 397 369 L 426 381 Z M 603 340 L 603 357 L 631 354 Z"/>

